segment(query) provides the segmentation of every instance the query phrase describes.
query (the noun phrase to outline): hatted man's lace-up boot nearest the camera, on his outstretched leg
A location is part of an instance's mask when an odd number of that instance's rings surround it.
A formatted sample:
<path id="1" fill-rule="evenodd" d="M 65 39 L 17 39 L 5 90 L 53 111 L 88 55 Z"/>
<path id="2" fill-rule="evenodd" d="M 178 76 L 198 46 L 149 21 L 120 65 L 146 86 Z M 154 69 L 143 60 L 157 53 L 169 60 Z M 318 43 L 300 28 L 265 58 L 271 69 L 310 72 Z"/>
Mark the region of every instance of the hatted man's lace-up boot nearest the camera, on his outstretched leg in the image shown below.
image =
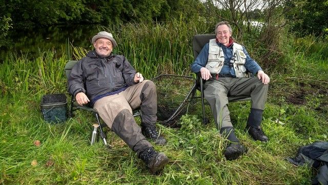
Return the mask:
<path id="1" fill-rule="evenodd" d="M 153 147 L 142 151 L 139 158 L 146 163 L 152 174 L 163 169 L 169 162 L 169 158 L 164 153 L 156 152 Z"/>

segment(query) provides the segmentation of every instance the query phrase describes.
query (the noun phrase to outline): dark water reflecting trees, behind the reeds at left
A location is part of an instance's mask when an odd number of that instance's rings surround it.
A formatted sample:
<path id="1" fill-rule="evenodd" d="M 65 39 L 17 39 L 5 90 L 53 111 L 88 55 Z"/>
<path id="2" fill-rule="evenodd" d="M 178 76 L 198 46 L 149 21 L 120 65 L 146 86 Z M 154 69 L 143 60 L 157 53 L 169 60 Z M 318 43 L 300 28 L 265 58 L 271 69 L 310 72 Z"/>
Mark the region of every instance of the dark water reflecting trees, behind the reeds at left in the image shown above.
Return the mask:
<path id="1" fill-rule="evenodd" d="M 91 47 L 91 38 L 101 29 L 100 25 L 51 26 L 30 30 L 10 30 L 9 46 L 0 48 L 0 63 L 9 55 L 37 57 L 40 52 L 55 50 L 59 57 L 66 49 L 69 40 L 73 46 Z"/>

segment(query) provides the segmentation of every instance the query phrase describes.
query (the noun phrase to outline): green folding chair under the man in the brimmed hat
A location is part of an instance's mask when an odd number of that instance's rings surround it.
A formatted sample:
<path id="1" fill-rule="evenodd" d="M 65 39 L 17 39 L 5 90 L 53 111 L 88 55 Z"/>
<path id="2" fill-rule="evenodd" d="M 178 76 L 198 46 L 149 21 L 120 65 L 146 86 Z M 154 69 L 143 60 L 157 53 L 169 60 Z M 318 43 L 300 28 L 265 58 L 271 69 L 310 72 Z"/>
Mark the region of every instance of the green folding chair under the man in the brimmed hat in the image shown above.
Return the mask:
<path id="1" fill-rule="evenodd" d="M 71 69 L 73 68 L 73 66 L 77 63 L 77 61 L 68 61 L 67 64 L 65 65 L 65 73 L 66 73 L 66 78 L 67 80 L 69 79 L 70 77 L 70 74 L 71 74 Z M 69 110 L 69 116 L 70 117 L 73 117 L 73 112 L 75 110 L 86 110 L 88 112 L 91 112 L 93 113 L 93 115 L 95 116 L 96 118 L 96 121 L 98 123 L 98 129 L 100 131 L 100 137 L 103 139 L 104 143 L 106 146 L 109 146 L 107 144 L 107 141 L 106 141 L 106 134 L 104 133 L 103 131 L 103 127 L 106 127 L 107 124 L 104 123 L 104 124 L 101 124 L 100 123 L 100 119 L 99 119 L 99 114 L 97 112 L 97 110 L 95 110 L 94 108 L 91 108 L 90 106 L 87 106 L 87 105 L 83 105 L 83 106 L 80 106 L 78 105 L 76 102 L 75 102 L 75 97 L 72 95 L 71 97 L 71 105 L 70 105 L 70 110 Z M 140 111 L 139 110 L 134 110 L 134 113 L 133 113 L 133 116 L 140 116 Z M 92 141 L 90 141 L 91 144 L 93 144 Z"/>

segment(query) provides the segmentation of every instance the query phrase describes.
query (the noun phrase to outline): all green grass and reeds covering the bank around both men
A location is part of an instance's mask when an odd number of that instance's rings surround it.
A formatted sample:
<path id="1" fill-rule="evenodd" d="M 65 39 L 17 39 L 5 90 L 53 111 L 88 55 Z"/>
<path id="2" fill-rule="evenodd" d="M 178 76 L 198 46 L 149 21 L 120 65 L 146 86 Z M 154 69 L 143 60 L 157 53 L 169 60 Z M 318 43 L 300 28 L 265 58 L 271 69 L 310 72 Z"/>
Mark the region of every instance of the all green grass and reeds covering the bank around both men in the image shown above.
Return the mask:
<path id="1" fill-rule="evenodd" d="M 210 32 L 209 27 L 176 21 L 108 29 L 122 38 L 117 39 L 120 45 L 115 52 L 125 54 L 150 79 L 163 72 L 191 75 L 192 35 Z M 77 112 L 60 124 L 43 120 L 41 97 L 66 92 L 67 54 L 56 58 L 48 51 L 34 60 L 11 56 L 0 66 L 0 183 L 311 184 L 316 171 L 295 167 L 285 158 L 294 157 L 299 146 L 327 141 L 328 47 L 312 37 L 284 43 L 276 68 L 266 69 L 271 83 L 262 127 L 270 141 L 254 141 L 244 131 L 250 102 L 231 103 L 236 135 L 249 151 L 240 159 L 227 161 L 222 156 L 227 140 L 216 131 L 209 106 L 206 113 L 211 122 L 201 124 L 198 102 L 191 108 L 196 111 L 179 120 L 181 128 L 158 124 L 168 144 L 155 149 L 170 158 L 159 175 L 151 175 L 113 132 L 107 131 L 112 149 L 106 149 L 101 141 L 90 146 L 88 138 L 95 120 L 85 112 Z M 71 52 L 80 58 L 86 50 L 73 47 Z M 39 146 L 35 140 L 40 141 Z"/>

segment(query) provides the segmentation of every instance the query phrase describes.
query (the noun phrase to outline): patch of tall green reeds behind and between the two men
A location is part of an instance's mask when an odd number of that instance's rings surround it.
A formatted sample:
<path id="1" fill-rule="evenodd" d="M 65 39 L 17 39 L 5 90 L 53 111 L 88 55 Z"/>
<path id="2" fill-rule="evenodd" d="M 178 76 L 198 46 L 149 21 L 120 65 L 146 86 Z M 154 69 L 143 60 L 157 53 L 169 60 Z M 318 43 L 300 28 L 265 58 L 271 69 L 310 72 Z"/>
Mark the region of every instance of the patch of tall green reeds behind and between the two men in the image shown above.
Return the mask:
<path id="1" fill-rule="evenodd" d="M 166 24 L 127 23 L 103 28 L 113 33 L 117 42 L 114 53 L 123 54 L 147 78 L 160 73 L 190 74 L 193 62 L 192 38 L 195 34 L 213 33 L 215 23 L 199 20 L 186 22 L 172 20 Z M 75 59 L 85 55 L 85 50 L 73 54 Z M 74 53 L 74 52 L 73 52 Z"/>

